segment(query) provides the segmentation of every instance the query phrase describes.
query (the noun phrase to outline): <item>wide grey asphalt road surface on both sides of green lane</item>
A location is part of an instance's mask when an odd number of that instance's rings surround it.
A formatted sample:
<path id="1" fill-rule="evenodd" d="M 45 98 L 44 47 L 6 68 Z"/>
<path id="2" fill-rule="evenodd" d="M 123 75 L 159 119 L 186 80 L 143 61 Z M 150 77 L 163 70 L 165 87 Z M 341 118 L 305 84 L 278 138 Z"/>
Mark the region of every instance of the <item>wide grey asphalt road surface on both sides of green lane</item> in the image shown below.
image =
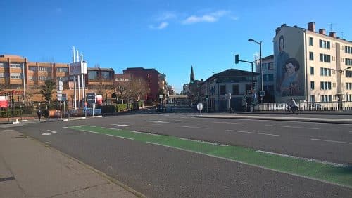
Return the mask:
<path id="1" fill-rule="evenodd" d="M 53 122 L 14 128 L 80 159 L 148 197 L 351 197 L 352 188 L 234 161 L 141 143 L 68 126 L 102 126 L 352 164 L 352 128 L 191 114 L 144 114 Z M 56 131 L 48 136 L 47 130 Z M 350 174 L 351 169 L 344 173 Z"/>

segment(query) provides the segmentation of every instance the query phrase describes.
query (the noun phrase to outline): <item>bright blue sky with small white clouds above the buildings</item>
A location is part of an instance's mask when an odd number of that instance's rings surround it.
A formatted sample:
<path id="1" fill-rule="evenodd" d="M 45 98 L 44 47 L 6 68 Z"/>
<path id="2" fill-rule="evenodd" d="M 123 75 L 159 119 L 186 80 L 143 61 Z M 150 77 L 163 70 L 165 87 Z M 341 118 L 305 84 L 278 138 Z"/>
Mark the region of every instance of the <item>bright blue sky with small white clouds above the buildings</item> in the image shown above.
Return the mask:
<path id="1" fill-rule="evenodd" d="M 0 54 L 33 62 L 71 62 L 71 48 L 89 67 L 122 73 L 127 67 L 155 68 L 177 93 L 189 82 L 234 65 L 234 54 L 253 60 L 273 53 L 275 28 L 283 23 L 325 28 L 352 40 L 352 1 L 53 1 L 0 0 Z M 343 32 L 343 33 L 342 33 Z"/>

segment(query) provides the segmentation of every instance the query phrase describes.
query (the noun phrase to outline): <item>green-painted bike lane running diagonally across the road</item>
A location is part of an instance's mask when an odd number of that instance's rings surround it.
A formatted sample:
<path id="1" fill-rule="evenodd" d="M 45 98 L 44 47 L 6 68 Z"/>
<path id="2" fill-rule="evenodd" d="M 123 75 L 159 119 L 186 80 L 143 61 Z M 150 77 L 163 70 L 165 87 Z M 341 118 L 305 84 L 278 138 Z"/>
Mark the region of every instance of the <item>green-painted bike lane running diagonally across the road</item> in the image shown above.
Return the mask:
<path id="1" fill-rule="evenodd" d="M 121 130 L 118 128 L 88 125 L 70 126 L 68 128 L 77 131 L 100 133 L 106 136 L 125 138 L 146 144 L 172 147 L 177 150 L 203 154 L 210 157 L 234 161 L 249 166 L 256 166 L 263 169 L 277 171 L 279 173 L 287 173 L 352 189 L 351 166 L 337 166 L 319 161 L 310 161 L 307 159 L 258 152 L 257 150 L 246 147 L 222 145 L 218 143 L 178 138 L 175 136 Z"/>

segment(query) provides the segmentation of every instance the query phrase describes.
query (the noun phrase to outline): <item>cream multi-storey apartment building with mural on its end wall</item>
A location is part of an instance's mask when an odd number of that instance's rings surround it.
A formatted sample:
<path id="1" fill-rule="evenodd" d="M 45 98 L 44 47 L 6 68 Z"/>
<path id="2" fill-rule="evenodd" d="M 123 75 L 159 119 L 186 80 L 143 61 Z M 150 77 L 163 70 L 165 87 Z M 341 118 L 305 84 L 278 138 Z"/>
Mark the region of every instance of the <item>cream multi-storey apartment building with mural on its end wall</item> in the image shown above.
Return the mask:
<path id="1" fill-rule="evenodd" d="M 336 32 L 282 25 L 274 37 L 275 101 L 352 101 L 352 42 Z"/>

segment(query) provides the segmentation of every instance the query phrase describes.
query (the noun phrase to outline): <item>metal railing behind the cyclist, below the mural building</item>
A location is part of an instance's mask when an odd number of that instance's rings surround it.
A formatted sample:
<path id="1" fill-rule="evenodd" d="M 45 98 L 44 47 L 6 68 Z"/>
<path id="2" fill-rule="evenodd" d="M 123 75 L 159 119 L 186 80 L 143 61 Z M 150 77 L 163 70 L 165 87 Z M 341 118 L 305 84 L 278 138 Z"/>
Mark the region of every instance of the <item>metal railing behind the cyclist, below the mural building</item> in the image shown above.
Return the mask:
<path id="1" fill-rule="evenodd" d="M 303 102 L 297 103 L 300 111 L 315 111 L 315 112 L 338 112 L 351 111 L 352 102 L 335 101 L 335 102 Z M 255 111 L 288 111 L 286 103 L 263 103 L 255 105 Z"/>

